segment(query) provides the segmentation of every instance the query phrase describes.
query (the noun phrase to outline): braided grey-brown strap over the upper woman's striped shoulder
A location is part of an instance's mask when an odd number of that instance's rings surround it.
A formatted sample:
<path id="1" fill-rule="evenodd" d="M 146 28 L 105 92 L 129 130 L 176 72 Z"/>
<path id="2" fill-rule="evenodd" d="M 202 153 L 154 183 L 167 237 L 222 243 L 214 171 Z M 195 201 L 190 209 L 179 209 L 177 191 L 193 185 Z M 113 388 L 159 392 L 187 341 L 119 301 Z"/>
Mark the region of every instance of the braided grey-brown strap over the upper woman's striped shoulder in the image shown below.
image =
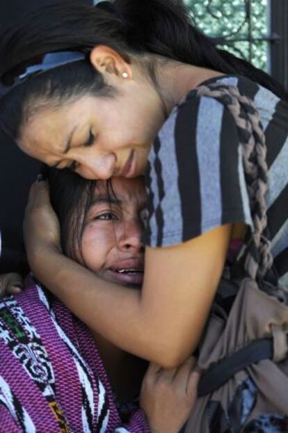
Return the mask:
<path id="1" fill-rule="evenodd" d="M 273 256 L 271 244 L 264 236 L 267 226 L 265 194 L 268 189 L 268 167 L 266 141 L 259 113 L 253 101 L 241 95 L 235 86 L 215 83 L 200 86 L 196 91 L 199 96 L 213 97 L 224 104 L 237 125 L 254 226 L 243 262 L 251 278 L 262 279 L 273 265 Z"/>

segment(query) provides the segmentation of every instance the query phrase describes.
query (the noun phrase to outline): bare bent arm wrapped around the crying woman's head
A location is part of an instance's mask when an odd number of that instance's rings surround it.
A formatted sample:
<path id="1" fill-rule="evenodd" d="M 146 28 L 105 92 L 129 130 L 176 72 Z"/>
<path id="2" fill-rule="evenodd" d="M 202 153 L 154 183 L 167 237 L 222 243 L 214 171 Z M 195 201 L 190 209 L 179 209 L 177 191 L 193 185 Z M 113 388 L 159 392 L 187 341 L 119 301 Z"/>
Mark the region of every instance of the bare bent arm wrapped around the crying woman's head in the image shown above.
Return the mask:
<path id="1" fill-rule="evenodd" d="M 35 276 L 115 345 L 166 368 L 179 365 L 200 340 L 221 278 L 231 226 L 179 246 L 147 248 L 143 289 L 138 292 L 98 278 L 61 253 L 52 235 L 56 230 L 47 228 L 51 214 L 48 218 L 45 188 L 45 184 L 34 187 L 26 219 L 26 239 L 30 237 L 26 250 Z"/>

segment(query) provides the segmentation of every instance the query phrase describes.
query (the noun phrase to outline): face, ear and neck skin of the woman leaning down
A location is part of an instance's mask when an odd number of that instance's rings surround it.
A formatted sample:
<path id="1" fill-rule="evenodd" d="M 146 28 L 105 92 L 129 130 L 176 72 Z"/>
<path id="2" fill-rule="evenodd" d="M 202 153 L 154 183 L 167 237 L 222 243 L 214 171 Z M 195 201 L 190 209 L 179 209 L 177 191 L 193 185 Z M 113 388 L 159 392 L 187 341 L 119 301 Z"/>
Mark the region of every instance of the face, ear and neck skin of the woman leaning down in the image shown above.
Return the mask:
<path id="1" fill-rule="evenodd" d="M 176 63 L 159 72 L 163 85 L 156 89 L 137 63 L 125 63 L 109 47 L 96 47 L 90 58 L 116 95 L 85 96 L 57 109 L 32 112 L 18 142 L 31 157 L 58 168 L 73 164 L 87 179 L 134 178 L 145 173 L 151 143 L 167 113 L 200 81 L 219 74 Z M 176 81 L 179 74 L 181 79 Z M 127 173 L 125 164 L 132 151 L 133 164 Z"/>

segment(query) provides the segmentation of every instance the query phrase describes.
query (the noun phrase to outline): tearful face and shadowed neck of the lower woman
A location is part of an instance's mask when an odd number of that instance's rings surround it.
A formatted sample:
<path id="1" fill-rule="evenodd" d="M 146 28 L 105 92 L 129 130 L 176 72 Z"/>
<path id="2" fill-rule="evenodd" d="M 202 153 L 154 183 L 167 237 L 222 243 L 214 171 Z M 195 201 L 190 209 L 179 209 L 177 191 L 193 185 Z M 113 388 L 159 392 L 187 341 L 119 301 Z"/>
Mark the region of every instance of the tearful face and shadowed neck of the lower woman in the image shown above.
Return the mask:
<path id="1" fill-rule="evenodd" d="M 81 237 L 81 255 L 77 246 L 74 249 L 77 260 L 97 276 L 139 290 L 144 271 L 141 214 L 146 205 L 146 191 L 143 178 L 115 178 L 112 188 L 115 196 L 109 196 L 106 185 L 97 182 Z M 115 198 L 117 203 L 114 203 Z M 131 268 L 134 269 L 132 274 L 129 273 Z M 127 274 L 115 269 L 125 270 Z M 147 364 L 111 344 L 93 329 L 90 331 L 118 400 L 133 401 L 139 394 Z"/>

